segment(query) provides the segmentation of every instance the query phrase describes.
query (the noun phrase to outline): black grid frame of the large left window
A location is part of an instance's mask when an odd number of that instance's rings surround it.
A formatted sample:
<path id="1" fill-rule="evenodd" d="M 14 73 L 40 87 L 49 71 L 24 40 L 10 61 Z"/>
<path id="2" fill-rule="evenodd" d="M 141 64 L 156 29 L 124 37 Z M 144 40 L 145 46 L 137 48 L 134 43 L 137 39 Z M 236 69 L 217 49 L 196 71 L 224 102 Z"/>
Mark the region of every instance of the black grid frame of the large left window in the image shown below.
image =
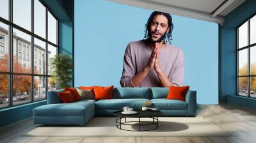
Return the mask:
<path id="1" fill-rule="evenodd" d="M 7 109 L 7 108 L 10 108 L 10 107 L 15 107 L 15 106 L 19 106 L 19 105 L 24 105 L 24 104 L 28 104 L 28 103 L 32 103 L 32 102 L 40 102 L 42 100 L 47 100 L 47 91 L 48 91 L 48 80 L 49 80 L 49 77 L 51 77 L 51 75 L 48 74 L 48 69 L 46 68 L 46 71 L 45 71 L 45 74 L 42 73 L 42 74 L 36 74 L 34 73 L 34 61 L 35 61 L 35 57 L 34 57 L 34 38 L 37 38 L 38 40 L 41 40 L 41 41 L 44 41 L 45 42 L 45 50 L 46 50 L 46 55 L 45 55 L 45 59 L 46 59 L 46 62 L 45 62 L 45 66 L 47 67 L 48 66 L 48 63 L 49 63 L 49 59 L 48 59 L 48 44 L 49 45 L 52 45 L 53 47 L 56 47 L 57 49 L 57 53 L 56 55 L 59 54 L 59 39 L 58 39 L 58 34 L 59 34 L 59 27 L 58 27 L 58 24 L 59 24 L 59 19 L 56 17 L 56 15 L 54 15 L 54 13 L 51 11 L 51 9 L 46 6 L 46 4 L 44 3 L 44 1 L 42 0 L 38 0 L 43 6 L 45 6 L 45 38 L 39 36 L 38 34 L 35 34 L 34 32 L 34 15 L 35 15 L 35 11 L 34 11 L 34 1 L 35 0 L 31 0 L 31 31 L 13 23 L 13 0 L 9 0 L 8 1 L 8 6 L 9 6 L 9 11 L 8 11 L 8 20 L 4 19 L 3 17 L 0 17 L 0 22 L 2 22 L 3 24 L 7 24 L 8 25 L 8 44 L 6 46 L 6 48 L 8 48 L 9 50 L 9 62 L 8 62 L 8 65 L 9 65 L 9 70 L 8 72 L 1 72 L 0 71 L 0 74 L 3 74 L 3 75 L 8 75 L 8 106 L 6 107 L 0 107 L 0 110 L 1 109 Z M 51 13 L 51 15 L 54 17 L 54 19 L 56 19 L 56 36 L 57 36 L 57 41 L 56 41 L 56 44 L 52 43 L 51 41 L 48 40 L 48 11 L 49 13 Z M 23 33 L 26 33 L 26 34 L 29 34 L 31 36 L 31 54 L 29 54 L 29 62 L 31 62 L 31 72 L 30 73 L 17 73 L 17 72 L 13 72 L 13 28 L 19 30 L 19 31 L 22 31 Z M 18 42 L 18 41 L 17 41 Z M 19 45 L 19 43 L 17 43 L 17 45 Z M 26 50 L 26 47 L 25 47 L 25 51 L 23 52 L 23 44 L 21 45 L 21 50 L 19 50 L 19 47 L 16 47 L 17 48 L 17 52 L 20 51 L 22 54 L 23 53 L 26 53 L 27 55 L 27 50 Z M 17 57 L 19 58 L 19 57 Z M 22 57 L 23 58 L 23 57 Z M 26 60 L 27 61 L 27 60 Z M 28 102 L 26 103 L 20 103 L 20 104 L 17 104 L 17 105 L 13 105 L 13 92 L 12 92 L 12 88 L 13 88 L 13 75 L 29 75 L 30 78 L 31 78 L 31 87 L 30 87 L 30 96 L 31 96 L 31 99 L 30 101 L 28 100 Z M 35 94 L 34 94 L 34 79 L 35 77 L 45 77 L 45 98 L 44 99 L 40 99 L 40 100 L 35 100 L 34 97 L 35 97 Z"/>

